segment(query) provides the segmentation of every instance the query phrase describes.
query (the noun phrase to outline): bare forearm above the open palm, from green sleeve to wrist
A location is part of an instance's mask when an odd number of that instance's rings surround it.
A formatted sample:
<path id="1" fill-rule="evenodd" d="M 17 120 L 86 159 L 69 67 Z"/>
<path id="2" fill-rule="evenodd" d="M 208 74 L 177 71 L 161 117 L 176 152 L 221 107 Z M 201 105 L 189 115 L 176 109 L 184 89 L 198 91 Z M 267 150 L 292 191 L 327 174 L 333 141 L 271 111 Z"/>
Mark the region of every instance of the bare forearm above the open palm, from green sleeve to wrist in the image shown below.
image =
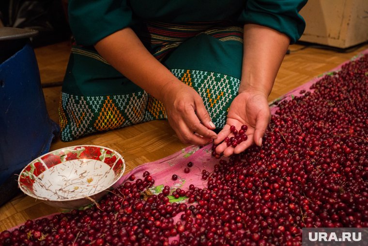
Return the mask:
<path id="1" fill-rule="evenodd" d="M 245 24 L 239 93 L 253 90 L 268 97 L 289 43 L 285 34 L 264 26 Z"/>

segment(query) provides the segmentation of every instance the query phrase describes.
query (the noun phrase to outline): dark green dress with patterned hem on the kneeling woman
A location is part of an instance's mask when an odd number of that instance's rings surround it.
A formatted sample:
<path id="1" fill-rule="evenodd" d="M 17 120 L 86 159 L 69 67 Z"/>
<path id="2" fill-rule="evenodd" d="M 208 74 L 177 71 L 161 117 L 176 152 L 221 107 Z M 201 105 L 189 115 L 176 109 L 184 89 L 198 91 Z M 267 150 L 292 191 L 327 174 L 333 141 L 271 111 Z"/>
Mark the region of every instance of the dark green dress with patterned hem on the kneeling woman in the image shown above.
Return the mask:
<path id="1" fill-rule="evenodd" d="M 212 121 L 222 128 L 240 83 L 243 25 L 270 27 L 285 33 L 294 43 L 305 28 L 298 14 L 305 3 L 70 0 L 69 22 L 76 45 L 61 92 L 61 140 L 166 118 L 161 102 L 126 79 L 93 49 L 93 44 L 109 34 L 131 27 L 156 59 L 196 89 Z"/>

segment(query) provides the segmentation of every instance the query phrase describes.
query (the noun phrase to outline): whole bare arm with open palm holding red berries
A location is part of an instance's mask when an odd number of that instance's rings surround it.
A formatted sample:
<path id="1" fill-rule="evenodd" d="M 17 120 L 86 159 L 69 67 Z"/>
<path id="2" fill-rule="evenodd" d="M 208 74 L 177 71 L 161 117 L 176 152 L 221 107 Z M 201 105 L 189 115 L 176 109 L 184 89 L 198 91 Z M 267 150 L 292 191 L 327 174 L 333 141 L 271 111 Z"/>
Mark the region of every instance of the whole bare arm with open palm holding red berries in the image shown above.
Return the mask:
<path id="1" fill-rule="evenodd" d="M 226 125 L 215 140 L 217 153 L 225 156 L 238 154 L 255 143 L 262 144 L 262 137 L 271 118 L 268 95 L 271 93 L 277 71 L 288 49 L 290 38 L 271 28 L 256 24 L 244 25 L 244 53 L 239 94 L 232 101 Z M 240 129 L 247 125 L 248 139 L 235 148 L 221 143 L 232 137 L 230 126 Z M 220 144 L 221 143 L 221 144 Z"/>

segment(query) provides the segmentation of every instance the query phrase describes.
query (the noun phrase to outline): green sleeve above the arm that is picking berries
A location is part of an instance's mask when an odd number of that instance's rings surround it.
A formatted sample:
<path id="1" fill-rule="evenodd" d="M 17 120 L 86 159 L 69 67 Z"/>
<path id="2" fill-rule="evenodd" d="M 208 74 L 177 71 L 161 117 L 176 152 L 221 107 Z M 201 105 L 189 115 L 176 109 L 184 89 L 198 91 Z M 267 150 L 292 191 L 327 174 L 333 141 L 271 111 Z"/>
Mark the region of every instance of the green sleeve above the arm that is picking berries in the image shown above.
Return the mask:
<path id="1" fill-rule="evenodd" d="M 126 0 L 69 0 L 70 28 L 79 45 L 94 45 L 132 22 Z"/>

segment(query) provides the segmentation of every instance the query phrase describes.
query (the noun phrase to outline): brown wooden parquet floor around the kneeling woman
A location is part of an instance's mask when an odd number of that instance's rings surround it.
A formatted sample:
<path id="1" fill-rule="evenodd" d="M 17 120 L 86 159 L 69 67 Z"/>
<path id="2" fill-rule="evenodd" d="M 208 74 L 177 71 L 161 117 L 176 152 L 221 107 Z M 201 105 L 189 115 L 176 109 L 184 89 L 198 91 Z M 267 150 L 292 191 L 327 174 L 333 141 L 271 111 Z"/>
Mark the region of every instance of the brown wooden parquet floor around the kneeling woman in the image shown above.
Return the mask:
<path id="1" fill-rule="evenodd" d="M 285 56 L 269 101 L 349 60 L 354 55 L 368 49 L 368 44 L 346 53 L 329 49 L 301 49 L 303 47 L 301 45 L 290 46 L 291 53 Z M 70 49 L 68 42 L 35 49 L 43 84 L 49 85 L 62 81 Z M 59 122 L 60 92 L 61 86 L 44 88 L 48 113 L 56 122 Z M 116 149 L 125 159 L 126 172 L 140 164 L 164 158 L 186 147 L 176 137 L 168 122 L 161 120 L 90 135 L 73 142 L 64 143 L 56 139 L 51 145 L 51 150 L 81 144 Z M 0 231 L 19 225 L 27 219 L 56 212 L 60 210 L 35 201 L 19 192 L 15 198 L 0 207 Z"/>

